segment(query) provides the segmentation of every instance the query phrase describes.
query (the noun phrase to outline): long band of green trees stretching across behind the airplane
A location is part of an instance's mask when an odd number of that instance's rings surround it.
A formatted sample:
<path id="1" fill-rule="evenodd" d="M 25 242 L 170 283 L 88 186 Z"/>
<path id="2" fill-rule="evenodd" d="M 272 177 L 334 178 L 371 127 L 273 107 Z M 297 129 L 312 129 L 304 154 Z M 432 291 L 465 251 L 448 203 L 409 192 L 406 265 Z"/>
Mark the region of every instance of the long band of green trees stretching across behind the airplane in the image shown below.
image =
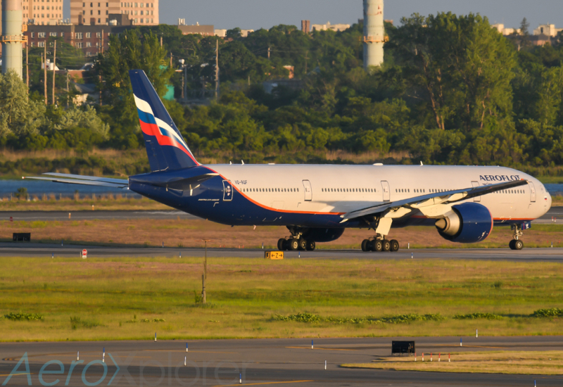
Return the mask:
<path id="1" fill-rule="evenodd" d="M 507 39 L 481 15 L 452 13 L 414 14 L 397 27 L 386 23 L 386 34 L 384 65 L 365 72 L 358 24 L 310 34 L 279 25 L 245 38 L 235 29 L 227 39 L 138 27 L 110 37 L 96 57 L 91 79 L 102 106 L 45 108 L 22 93 L 32 113 L 16 113 L 2 85 L 1 144 L 139 148 L 127 70 L 145 70 L 161 96 L 174 85 L 177 98 L 185 70 L 196 96 L 215 89 L 218 42 L 219 97 L 193 107 L 165 101 L 202 157 L 310 163 L 327 162 L 327 151 L 369 151 L 403 155 L 396 163 L 562 165 L 561 34 L 553 45 L 531 46 L 527 31 Z M 267 94 L 262 82 L 287 78 L 285 66 L 296 87 Z M 1 82 L 17 83 L 9 75 Z"/>

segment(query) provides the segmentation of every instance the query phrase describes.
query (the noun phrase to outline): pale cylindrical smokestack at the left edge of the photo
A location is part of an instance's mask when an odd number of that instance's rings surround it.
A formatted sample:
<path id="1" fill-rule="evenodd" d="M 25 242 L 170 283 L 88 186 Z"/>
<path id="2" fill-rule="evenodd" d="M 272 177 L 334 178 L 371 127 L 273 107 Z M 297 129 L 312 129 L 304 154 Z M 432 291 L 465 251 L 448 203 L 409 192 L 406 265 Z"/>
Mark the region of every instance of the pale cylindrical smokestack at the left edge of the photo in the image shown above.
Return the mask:
<path id="1" fill-rule="evenodd" d="M 22 1 L 1 0 L 2 2 L 2 74 L 14 70 L 22 77 Z"/>

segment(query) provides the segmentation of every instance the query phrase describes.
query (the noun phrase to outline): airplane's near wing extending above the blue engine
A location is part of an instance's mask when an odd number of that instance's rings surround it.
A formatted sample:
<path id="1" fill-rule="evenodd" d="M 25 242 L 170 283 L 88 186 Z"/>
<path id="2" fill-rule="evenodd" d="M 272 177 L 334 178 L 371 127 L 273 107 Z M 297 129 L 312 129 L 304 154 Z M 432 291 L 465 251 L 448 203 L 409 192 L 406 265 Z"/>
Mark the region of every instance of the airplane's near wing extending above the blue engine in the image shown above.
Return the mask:
<path id="1" fill-rule="evenodd" d="M 476 196 L 493 194 L 493 192 L 502 191 L 503 189 L 511 189 L 517 186 L 524 186 L 526 184 L 528 184 L 528 181 L 522 179 L 522 180 L 516 180 L 514 182 L 505 182 L 505 183 L 491 184 L 486 186 L 476 186 L 467 189 L 456 189 L 453 191 L 436 192 L 422 196 L 415 196 L 400 201 L 379 203 L 371 207 L 360 208 L 358 210 L 353 210 L 344 215 L 341 215 L 341 217 L 343 218 L 343 221 L 341 223 L 347 222 L 350 219 L 355 219 L 358 217 L 364 217 L 369 215 L 377 215 L 386 210 L 396 209 L 401 207 L 409 208 L 409 209 L 417 209 L 417 208 L 423 208 L 436 204 L 455 203 L 457 201 L 464 201 L 470 198 L 475 198 Z"/>

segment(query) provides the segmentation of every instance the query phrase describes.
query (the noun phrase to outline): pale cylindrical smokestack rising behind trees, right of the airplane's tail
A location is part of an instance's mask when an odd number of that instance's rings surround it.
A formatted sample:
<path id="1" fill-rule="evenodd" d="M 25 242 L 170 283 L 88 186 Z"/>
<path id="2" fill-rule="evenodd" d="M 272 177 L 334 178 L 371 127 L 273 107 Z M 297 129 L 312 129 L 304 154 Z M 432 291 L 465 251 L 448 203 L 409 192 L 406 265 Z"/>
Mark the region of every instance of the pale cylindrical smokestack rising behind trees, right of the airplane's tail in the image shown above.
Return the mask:
<path id="1" fill-rule="evenodd" d="M 364 69 L 383 64 L 383 0 L 364 0 Z"/>

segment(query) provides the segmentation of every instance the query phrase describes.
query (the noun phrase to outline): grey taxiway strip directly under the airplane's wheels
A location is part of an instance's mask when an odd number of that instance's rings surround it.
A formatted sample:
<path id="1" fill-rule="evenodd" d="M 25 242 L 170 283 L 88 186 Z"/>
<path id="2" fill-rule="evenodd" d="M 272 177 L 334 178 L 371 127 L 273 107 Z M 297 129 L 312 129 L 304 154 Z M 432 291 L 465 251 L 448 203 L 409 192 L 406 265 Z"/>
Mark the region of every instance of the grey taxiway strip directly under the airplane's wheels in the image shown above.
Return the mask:
<path id="1" fill-rule="evenodd" d="M 145 248 L 136 246 L 88 246 L 68 244 L 44 244 L 5 242 L 0 243 L 0 257 L 79 257 L 82 249 L 88 250 L 88 258 L 116 257 L 203 257 L 203 248 Z M 264 258 L 265 251 L 252 248 L 208 248 L 209 258 Z M 402 249 L 396 253 L 364 253 L 362 250 L 315 250 L 286 251 L 285 259 L 362 259 L 362 260 L 422 260 L 422 259 L 469 259 L 469 260 L 513 260 L 563 262 L 563 248 L 524 248 L 514 251 L 509 248 L 432 248 Z"/>

